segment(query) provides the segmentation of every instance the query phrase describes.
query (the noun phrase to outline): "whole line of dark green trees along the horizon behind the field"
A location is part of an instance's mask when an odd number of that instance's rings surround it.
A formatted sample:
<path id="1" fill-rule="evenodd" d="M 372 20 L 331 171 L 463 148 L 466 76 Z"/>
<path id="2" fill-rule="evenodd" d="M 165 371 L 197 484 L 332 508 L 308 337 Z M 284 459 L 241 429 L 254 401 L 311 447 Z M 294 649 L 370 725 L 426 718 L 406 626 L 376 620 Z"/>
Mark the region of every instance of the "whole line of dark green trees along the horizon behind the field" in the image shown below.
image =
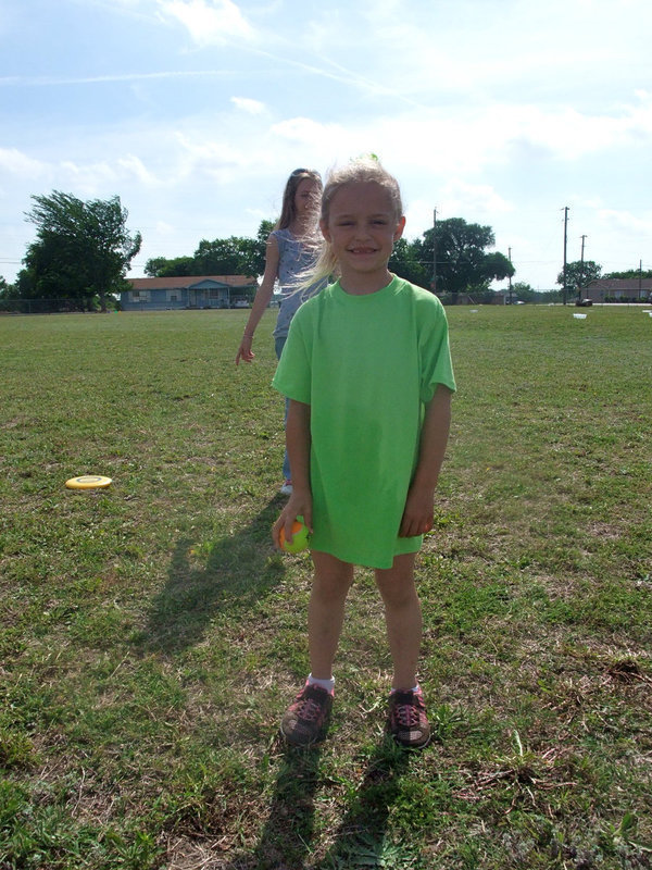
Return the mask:
<path id="1" fill-rule="evenodd" d="M 108 301 L 128 286 L 126 274 L 142 243 L 140 233 L 127 231 L 128 213 L 120 197 L 84 202 L 54 190 L 32 199 L 34 207 L 25 216 L 36 226 L 36 239 L 27 247 L 16 283 L 8 284 L 0 276 L 0 308 L 8 308 L 12 300 L 40 300 L 42 308 L 32 310 L 106 310 Z M 255 238 L 202 239 L 191 256 L 150 259 L 145 272 L 150 277 L 261 275 L 273 226 L 272 221 L 262 221 Z M 456 302 L 461 294 L 469 294 L 477 302 L 490 301 L 491 283 L 515 274 L 510 260 L 492 250 L 494 245 L 490 226 L 450 217 L 426 229 L 421 238 L 400 239 L 389 264 L 393 272 L 434 289 L 444 301 Z M 592 260 L 568 263 L 565 287 L 577 291 L 601 274 L 602 266 Z M 640 274 L 652 277 L 652 271 Z M 604 277 L 638 276 L 638 270 L 629 270 Z M 563 273 L 557 284 L 564 286 Z M 551 297 L 524 283 L 514 284 L 512 295 L 513 301 Z"/>

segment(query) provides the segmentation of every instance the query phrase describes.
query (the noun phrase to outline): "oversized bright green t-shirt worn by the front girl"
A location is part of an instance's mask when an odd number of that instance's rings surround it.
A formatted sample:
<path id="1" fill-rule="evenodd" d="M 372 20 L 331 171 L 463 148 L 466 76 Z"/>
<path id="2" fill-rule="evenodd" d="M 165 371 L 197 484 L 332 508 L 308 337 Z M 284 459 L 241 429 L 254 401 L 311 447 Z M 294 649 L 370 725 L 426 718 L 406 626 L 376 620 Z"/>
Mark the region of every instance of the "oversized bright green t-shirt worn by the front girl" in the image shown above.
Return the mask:
<path id="1" fill-rule="evenodd" d="M 311 406 L 311 548 L 391 568 L 421 547 L 399 526 L 438 384 L 455 389 L 446 312 L 427 290 L 394 277 L 352 296 L 336 283 L 301 306 L 273 385 Z"/>

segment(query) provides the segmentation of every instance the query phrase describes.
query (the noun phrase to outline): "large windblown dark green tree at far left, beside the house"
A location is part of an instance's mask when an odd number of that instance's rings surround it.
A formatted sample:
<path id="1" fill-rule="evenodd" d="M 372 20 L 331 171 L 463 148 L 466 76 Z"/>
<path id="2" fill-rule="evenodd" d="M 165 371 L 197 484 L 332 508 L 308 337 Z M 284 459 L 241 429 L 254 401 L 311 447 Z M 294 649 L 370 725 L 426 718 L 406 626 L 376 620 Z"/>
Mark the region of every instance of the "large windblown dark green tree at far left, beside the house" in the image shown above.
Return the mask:
<path id="1" fill-rule="evenodd" d="M 37 227 L 24 258 L 21 290 L 36 298 L 71 299 L 92 308 L 99 297 L 102 311 L 106 296 L 118 293 L 142 237 L 126 229 L 128 212 L 120 197 L 84 202 L 72 194 L 54 190 L 34 196 L 26 219 Z"/>

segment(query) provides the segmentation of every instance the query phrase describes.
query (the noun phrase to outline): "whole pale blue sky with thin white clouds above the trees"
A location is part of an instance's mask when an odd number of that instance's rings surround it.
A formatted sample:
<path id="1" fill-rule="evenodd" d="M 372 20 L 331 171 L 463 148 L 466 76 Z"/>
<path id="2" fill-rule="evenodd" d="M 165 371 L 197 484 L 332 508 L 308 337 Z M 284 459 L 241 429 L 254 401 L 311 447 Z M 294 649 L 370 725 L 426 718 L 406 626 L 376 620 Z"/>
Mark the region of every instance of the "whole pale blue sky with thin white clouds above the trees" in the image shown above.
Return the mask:
<path id="1" fill-rule="evenodd" d="M 32 195 L 121 197 L 151 257 L 255 235 L 363 152 L 409 238 L 488 224 L 514 281 L 652 269 L 650 0 L 0 0 L 0 275 Z"/>

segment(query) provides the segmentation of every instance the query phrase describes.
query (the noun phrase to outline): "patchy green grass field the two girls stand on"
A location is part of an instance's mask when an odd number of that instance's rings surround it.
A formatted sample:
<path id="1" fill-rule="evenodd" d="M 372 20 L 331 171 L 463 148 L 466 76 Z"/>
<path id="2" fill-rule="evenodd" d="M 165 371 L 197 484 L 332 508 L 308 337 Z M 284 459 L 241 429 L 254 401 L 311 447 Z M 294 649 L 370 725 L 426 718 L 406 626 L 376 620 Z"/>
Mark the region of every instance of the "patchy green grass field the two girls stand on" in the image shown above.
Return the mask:
<path id="1" fill-rule="evenodd" d="M 328 739 L 276 729 L 310 560 L 274 551 L 266 314 L 0 319 L 0 868 L 652 867 L 652 318 L 449 309 L 418 562 L 434 744 L 383 736 L 352 589 Z M 68 477 L 113 478 L 75 493 Z"/>

